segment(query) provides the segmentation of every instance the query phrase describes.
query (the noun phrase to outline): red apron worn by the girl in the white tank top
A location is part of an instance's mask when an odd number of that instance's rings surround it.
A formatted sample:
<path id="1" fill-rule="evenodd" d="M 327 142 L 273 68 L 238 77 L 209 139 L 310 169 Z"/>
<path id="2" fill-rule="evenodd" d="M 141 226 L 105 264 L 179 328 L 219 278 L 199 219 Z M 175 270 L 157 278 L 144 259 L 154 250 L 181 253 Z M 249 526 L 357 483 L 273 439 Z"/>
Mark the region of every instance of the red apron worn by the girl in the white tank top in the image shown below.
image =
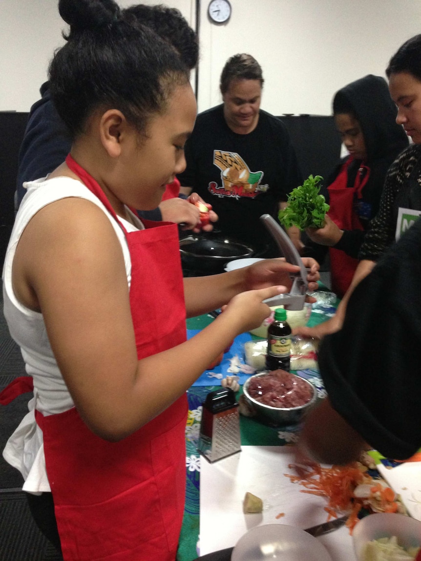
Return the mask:
<path id="1" fill-rule="evenodd" d="M 118 220 L 98 183 L 70 155 L 66 163 Z M 186 340 L 177 226 L 144 223 L 147 229 L 137 232 L 121 226 L 131 256 L 139 359 Z M 134 434 L 110 443 L 86 427 L 76 408 L 45 417 L 36 411 L 66 561 L 176 558 L 185 502 L 186 416 L 184 395 Z"/>

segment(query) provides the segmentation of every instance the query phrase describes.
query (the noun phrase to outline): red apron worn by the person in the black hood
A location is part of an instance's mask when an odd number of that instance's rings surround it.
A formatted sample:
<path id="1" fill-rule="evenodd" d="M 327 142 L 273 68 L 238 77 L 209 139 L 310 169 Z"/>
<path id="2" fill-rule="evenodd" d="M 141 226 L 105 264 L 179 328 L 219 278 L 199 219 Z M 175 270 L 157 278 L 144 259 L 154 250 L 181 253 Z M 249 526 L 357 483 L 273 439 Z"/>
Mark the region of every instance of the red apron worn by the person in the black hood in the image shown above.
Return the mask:
<path id="1" fill-rule="evenodd" d="M 354 186 L 347 187 L 348 168 L 351 162 L 353 162 L 353 158 L 346 160 L 336 180 L 327 188 L 330 204 L 327 214 L 341 230 L 362 230 L 363 226 L 354 210 L 354 199 L 355 197 L 361 198 L 361 190 L 368 181 L 370 169 L 361 164 L 356 174 Z M 361 179 L 364 169 L 365 174 Z M 335 247 L 329 248 L 329 255 L 332 290 L 339 297 L 342 297 L 351 284 L 358 259 L 350 257 L 345 251 L 335 249 Z"/>

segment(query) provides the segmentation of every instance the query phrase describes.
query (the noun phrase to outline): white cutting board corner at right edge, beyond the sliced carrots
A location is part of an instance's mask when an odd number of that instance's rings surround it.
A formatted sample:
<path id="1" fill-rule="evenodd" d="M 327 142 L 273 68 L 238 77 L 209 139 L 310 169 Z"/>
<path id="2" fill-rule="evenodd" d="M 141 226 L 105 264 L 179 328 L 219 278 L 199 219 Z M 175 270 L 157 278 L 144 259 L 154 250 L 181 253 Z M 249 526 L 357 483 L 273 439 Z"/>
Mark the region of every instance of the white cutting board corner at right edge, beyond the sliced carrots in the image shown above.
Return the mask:
<path id="1" fill-rule="evenodd" d="M 393 491 L 401 496 L 408 513 L 421 520 L 421 462 L 405 462 L 391 469 L 379 463 L 377 469 Z"/>

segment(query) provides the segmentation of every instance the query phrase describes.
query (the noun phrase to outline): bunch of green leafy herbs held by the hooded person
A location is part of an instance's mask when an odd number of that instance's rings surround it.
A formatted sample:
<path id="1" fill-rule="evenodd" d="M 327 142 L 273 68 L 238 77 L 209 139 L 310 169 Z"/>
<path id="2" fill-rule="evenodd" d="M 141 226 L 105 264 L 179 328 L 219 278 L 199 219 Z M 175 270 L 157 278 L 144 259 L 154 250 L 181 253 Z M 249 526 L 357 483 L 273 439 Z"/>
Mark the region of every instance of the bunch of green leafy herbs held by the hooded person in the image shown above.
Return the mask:
<path id="1" fill-rule="evenodd" d="M 321 228 L 324 215 L 329 210 L 323 195 L 319 194 L 320 187 L 317 185 L 323 180 L 321 176 L 309 176 L 299 187 L 293 189 L 288 196 L 288 206 L 279 211 L 279 221 L 285 228 L 298 226 L 301 230 L 305 228 Z"/>

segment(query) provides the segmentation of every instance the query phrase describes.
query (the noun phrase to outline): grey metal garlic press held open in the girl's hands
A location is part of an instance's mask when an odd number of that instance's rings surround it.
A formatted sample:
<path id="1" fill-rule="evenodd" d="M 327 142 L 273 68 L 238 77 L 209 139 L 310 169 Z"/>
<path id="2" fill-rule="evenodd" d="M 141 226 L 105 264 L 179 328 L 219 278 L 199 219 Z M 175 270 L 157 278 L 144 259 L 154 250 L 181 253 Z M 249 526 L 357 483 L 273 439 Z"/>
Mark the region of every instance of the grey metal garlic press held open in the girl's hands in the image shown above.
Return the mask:
<path id="1" fill-rule="evenodd" d="M 268 306 L 285 306 L 286 310 L 302 310 L 308 288 L 308 273 L 301 260 L 300 254 L 295 249 L 289 236 L 270 214 L 262 214 L 260 220 L 262 220 L 274 241 L 276 241 L 277 246 L 281 250 L 282 257 L 285 257 L 286 261 L 291 263 L 291 265 L 298 265 L 300 267 L 298 273 L 291 273 L 293 282 L 290 292 L 267 298 L 263 300 L 263 302 Z"/>

